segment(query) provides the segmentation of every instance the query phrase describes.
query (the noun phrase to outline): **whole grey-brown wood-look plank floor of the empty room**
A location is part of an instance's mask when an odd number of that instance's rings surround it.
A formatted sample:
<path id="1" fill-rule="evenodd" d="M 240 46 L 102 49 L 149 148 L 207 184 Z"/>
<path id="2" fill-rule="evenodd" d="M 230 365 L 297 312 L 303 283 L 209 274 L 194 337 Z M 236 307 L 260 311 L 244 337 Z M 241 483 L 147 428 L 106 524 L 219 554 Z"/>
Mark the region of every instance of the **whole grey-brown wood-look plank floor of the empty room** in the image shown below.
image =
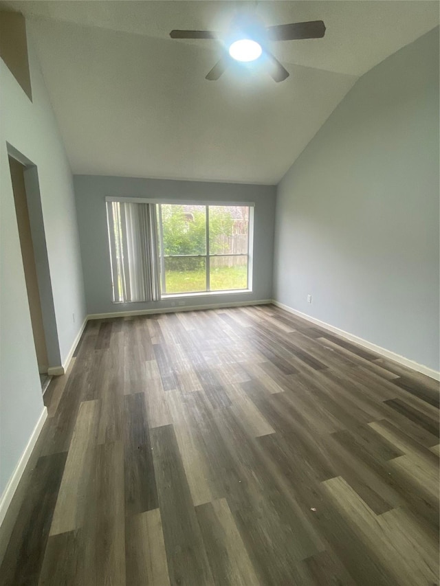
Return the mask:
<path id="1" fill-rule="evenodd" d="M 89 322 L 0 583 L 434 585 L 439 385 L 275 308 Z"/>

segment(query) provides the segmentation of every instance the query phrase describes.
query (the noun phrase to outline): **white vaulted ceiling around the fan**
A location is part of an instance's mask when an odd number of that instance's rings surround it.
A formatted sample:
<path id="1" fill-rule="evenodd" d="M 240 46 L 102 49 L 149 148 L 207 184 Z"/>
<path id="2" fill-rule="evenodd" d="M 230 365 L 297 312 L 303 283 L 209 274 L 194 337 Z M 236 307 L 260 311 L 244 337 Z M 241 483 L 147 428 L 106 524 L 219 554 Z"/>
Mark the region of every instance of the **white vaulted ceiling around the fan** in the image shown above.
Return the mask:
<path id="1" fill-rule="evenodd" d="M 74 173 L 278 183 L 359 76 L 439 23 L 437 1 L 12 1 L 29 21 Z M 238 65 L 205 76 L 236 10 L 267 25 L 323 20 L 272 43 L 276 84 Z"/>

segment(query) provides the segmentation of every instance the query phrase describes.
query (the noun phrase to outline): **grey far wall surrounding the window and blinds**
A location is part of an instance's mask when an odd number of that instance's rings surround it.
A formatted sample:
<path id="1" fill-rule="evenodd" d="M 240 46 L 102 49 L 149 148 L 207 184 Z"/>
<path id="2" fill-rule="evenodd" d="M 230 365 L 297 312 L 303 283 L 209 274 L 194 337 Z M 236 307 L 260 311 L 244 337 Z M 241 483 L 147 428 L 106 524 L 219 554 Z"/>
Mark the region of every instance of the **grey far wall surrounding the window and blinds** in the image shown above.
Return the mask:
<path id="1" fill-rule="evenodd" d="M 113 304 L 111 269 L 107 236 L 106 196 L 145 197 L 190 201 L 253 201 L 254 282 L 252 293 L 197 295 L 186 305 L 203 305 L 272 299 L 272 259 L 276 188 L 270 185 L 204 183 L 75 175 L 74 188 L 83 257 L 87 312 L 113 313 L 169 308 L 171 300 L 150 303 Z"/>

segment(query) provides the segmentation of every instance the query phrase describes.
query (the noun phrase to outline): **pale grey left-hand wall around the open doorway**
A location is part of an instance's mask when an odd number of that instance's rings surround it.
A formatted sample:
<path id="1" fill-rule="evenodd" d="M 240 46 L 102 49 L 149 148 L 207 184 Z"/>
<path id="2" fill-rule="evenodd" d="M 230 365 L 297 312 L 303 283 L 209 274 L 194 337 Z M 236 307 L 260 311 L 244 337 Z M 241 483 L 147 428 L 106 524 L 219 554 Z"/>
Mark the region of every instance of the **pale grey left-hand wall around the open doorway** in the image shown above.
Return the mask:
<path id="1" fill-rule="evenodd" d="M 8 145 L 32 161 L 38 171 L 61 361 L 86 315 L 72 173 L 32 41 L 28 47 L 32 102 L 0 60 L 0 494 L 43 412 Z"/>

